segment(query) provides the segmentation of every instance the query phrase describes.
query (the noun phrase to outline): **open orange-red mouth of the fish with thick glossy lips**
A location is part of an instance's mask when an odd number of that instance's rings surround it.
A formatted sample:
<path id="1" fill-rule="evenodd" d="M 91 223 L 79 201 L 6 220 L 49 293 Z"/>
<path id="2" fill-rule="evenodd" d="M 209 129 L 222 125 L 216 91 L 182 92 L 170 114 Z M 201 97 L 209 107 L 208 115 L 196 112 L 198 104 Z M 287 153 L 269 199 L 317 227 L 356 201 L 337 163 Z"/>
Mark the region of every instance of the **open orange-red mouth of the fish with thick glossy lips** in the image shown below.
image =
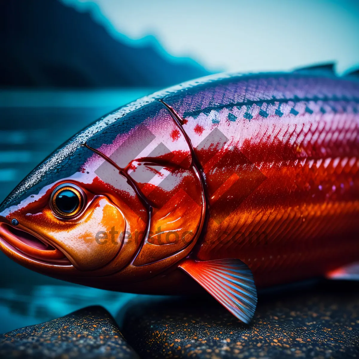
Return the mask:
<path id="1" fill-rule="evenodd" d="M 45 239 L 7 223 L 0 223 L 0 241 L 12 252 L 38 263 L 70 266 L 63 252 Z"/>

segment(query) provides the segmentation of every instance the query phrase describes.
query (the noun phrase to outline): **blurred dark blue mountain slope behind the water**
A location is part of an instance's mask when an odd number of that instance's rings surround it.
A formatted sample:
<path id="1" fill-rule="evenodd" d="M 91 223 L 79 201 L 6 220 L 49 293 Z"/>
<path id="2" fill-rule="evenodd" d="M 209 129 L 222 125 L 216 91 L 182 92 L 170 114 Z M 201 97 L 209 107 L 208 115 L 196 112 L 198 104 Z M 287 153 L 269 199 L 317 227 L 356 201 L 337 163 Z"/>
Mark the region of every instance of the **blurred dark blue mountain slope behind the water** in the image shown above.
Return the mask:
<path id="1" fill-rule="evenodd" d="M 209 74 L 155 44 L 130 46 L 57 0 L 0 2 L 1 87 L 165 87 Z"/>

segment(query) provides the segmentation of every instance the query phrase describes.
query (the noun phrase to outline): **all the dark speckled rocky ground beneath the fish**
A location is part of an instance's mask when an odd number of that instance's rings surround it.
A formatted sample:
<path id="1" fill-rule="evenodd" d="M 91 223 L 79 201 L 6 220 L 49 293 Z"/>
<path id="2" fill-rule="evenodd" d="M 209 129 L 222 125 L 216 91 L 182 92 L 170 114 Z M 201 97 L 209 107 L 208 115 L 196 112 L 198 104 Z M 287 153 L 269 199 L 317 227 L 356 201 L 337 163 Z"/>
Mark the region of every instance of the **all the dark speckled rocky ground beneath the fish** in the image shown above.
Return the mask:
<path id="1" fill-rule="evenodd" d="M 354 282 L 326 281 L 262 292 L 249 325 L 210 297 L 135 303 L 121 326 L 127 342 L 104 308 L 84 308 L 4 334 L 0 356 L 358 358 L 359 289 Z"/>

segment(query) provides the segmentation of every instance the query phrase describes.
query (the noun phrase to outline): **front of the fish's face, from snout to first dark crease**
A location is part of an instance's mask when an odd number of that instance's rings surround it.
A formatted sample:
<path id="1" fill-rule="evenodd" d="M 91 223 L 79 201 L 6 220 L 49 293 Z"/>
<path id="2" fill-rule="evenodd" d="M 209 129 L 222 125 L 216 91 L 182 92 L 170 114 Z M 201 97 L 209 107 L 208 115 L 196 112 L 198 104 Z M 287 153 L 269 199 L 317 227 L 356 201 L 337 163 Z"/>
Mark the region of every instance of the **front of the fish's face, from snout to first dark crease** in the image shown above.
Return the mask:
<path id="1" fill-rule="evenodd" d="M 0 246 L 20 264 L 59 278 L 106 275 L 134 255 L 138 244 L 124 246 L 124 237 L 132 227 L 144 227 L 145 211 L 135 195 L 126 204 L 120 190 L 94 173 L 91 166 L 100 167 L 101 157 L 79 148 L 71 159 L 59 163 L 59 153 L 53 155 L 5 199 Z"/>

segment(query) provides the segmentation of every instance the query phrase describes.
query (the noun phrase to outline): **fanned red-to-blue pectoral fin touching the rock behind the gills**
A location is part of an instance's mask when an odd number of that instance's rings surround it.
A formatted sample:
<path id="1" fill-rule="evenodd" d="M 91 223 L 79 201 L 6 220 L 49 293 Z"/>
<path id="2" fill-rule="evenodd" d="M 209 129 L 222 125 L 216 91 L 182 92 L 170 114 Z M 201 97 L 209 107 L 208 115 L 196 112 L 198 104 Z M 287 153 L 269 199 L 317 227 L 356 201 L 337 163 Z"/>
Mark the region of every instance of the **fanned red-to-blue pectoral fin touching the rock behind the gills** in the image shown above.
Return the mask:
<path id="1" fill-rule="evenodd" d="M 196 261 L 186 259 L 179 267 L 226 307 L 249 323 L 257 305 L 257 290 L 251 270 L 239 259 Z"/>

